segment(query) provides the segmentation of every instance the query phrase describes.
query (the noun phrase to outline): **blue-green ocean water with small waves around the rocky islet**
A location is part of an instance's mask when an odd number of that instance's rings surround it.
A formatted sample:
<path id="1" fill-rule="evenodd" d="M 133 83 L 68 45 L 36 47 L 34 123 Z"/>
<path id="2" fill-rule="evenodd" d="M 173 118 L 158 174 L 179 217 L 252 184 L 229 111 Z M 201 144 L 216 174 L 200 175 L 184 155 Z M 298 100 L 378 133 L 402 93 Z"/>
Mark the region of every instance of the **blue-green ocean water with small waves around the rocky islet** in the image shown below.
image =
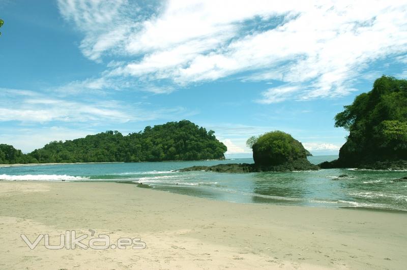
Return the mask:
<path id="1" fill-rule="evenodd" d="M 308 157 L 315 164 L 336 158 Z M 407 176 L 407 171 L 351 168 L 247 174 L 177 172 L 193 165 L 242 162 L 252 163 L 253 159 L 3 166 L 0 179 L 143 183 L 157 190 L 236 203 L 407 211 L 407 182 L 393 182 Z M 343 174 L 348 177 L 338 180 L 337 176 Z"/>

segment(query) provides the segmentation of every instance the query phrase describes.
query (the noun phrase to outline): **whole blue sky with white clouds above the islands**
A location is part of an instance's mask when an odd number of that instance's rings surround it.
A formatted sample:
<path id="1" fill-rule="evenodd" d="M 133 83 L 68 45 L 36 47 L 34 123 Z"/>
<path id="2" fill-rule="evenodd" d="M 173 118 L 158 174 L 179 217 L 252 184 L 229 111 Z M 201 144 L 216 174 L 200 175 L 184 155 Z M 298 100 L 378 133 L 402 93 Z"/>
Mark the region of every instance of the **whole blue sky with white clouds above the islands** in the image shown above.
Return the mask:
<path id="1" fill-rule="evenodd" d="M 407 4 L 373 2 L 0 0 L 0 143 L 189 119 L 228 157 L 276 129 L 337 154 L 335 114 L 407 78 Z"/>

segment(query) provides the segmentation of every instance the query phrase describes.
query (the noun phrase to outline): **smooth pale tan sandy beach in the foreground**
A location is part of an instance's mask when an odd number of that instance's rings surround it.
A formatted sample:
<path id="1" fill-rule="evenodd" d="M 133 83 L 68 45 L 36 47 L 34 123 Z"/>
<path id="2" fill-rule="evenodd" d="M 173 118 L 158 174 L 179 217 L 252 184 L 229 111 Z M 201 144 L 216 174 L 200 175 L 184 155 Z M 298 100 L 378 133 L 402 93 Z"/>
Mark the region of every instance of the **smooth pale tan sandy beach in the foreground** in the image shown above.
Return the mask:
<path id="1" fill-rule="evenodd" d="M 131 184 L 0 181 L 2 269 L 402 269 L 407 214 L 248 205 Z M 74 230 L 145 249 L 45 248 Z"/>

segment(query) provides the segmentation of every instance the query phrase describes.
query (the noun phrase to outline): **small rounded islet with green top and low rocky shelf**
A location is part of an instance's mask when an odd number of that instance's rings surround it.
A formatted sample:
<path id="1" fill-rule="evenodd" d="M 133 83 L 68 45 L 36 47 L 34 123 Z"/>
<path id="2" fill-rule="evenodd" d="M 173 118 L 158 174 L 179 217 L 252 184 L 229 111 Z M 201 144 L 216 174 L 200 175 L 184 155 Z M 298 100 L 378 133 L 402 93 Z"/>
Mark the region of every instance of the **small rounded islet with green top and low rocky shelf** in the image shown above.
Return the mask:
<path id="1" fill-rule="evenodd" d="M 251 137 L 247 145 L 253 150 L 254 164 L 229 163 L 214 166 L 192 166 L 180 172 L 211 171 L 220 173 L 292 172 L 319 170 L 307 160 L 304 146 L 290 134 L 272 131 Z"/>

